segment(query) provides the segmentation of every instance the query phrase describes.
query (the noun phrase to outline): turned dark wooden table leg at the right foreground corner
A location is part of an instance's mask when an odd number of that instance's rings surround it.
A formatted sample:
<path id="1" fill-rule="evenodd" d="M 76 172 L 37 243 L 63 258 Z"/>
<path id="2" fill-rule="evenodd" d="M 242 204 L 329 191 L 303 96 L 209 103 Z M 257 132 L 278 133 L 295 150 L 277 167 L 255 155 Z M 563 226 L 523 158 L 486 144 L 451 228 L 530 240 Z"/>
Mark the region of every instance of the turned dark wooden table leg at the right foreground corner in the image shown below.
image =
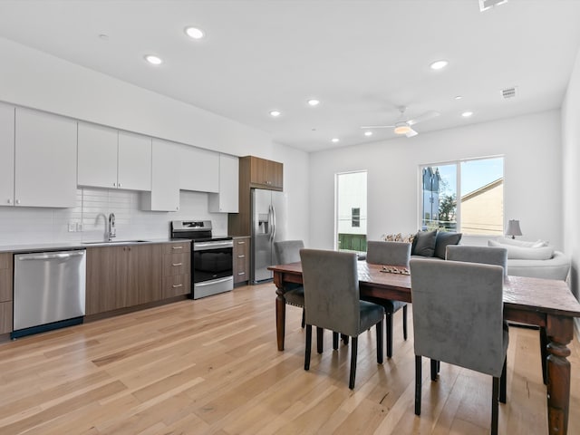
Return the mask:
<path id="1" fill-rule="evenodd" d="M 547 345 L 547 420 L 551 435 L 565 435 L 570 405 L 570 362 L 566 347 L 574 338 L 574 319 L 548 315 Z"/>

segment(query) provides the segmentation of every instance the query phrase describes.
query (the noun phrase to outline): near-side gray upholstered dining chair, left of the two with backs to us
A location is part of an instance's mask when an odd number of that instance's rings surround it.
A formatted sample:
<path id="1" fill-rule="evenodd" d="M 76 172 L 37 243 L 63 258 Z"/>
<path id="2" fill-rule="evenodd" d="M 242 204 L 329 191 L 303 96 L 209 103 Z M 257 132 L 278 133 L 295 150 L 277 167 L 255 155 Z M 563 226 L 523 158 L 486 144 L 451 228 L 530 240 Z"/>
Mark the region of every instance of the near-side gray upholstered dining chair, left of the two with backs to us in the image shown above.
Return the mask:
<path id="1" fill-rule="evenodd" d="M 359 297 L 357 257 L 354 253 L 302 249 L 306 344 L 304 370 L 310 369 L 312 326 L 333 331 L 333 348 L 338 348 L 338 333 L 352 337 L 349 388 L 356 376 L 358 336 L 376 325 L 377 362 L 382 363 L 381 305 L 362 301 Z"/>

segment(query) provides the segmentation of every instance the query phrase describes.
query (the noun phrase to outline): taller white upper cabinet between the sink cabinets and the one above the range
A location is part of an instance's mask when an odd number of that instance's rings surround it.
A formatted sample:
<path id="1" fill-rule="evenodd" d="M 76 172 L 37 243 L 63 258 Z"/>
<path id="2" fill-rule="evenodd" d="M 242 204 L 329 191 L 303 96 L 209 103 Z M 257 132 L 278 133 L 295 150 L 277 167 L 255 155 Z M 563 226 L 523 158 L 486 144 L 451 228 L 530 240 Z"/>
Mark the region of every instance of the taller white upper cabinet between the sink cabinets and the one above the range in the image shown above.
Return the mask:
<path id="1" fill-rule="evenodd" d="M 152 211 L 179 210 L 179 145 L 153 140 L 151 191 L 141 194 L 141 208 Z"/>

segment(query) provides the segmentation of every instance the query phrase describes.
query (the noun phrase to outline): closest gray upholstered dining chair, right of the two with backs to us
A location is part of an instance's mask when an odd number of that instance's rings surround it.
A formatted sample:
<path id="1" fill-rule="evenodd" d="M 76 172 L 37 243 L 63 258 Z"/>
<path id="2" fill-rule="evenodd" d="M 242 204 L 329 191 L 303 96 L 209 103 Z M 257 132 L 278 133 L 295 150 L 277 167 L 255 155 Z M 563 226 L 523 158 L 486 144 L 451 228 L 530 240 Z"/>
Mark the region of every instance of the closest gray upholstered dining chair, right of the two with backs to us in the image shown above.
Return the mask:
<path id="1" fill-rule="evenodd" d="M 415 346 L 415 414 L 420 415 L 421 356 L 493 377 L 491 433 L 498 433 L 498 400 L 506 402 L 509 335 L 503 321 L 501 266 L 411 259 Z"/>

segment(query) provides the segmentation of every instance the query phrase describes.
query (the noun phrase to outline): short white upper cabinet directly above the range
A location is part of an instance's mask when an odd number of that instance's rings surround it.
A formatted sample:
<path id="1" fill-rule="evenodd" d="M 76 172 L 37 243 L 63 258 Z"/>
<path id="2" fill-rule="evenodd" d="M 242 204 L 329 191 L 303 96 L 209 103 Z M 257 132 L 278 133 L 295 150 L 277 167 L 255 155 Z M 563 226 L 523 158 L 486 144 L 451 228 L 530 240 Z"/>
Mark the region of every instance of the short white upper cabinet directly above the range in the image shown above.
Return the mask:
<path id="1" fill-rule="evenodd" d="M 219 153 L 179 146 L 179 189 L 219 192 Z"/>

